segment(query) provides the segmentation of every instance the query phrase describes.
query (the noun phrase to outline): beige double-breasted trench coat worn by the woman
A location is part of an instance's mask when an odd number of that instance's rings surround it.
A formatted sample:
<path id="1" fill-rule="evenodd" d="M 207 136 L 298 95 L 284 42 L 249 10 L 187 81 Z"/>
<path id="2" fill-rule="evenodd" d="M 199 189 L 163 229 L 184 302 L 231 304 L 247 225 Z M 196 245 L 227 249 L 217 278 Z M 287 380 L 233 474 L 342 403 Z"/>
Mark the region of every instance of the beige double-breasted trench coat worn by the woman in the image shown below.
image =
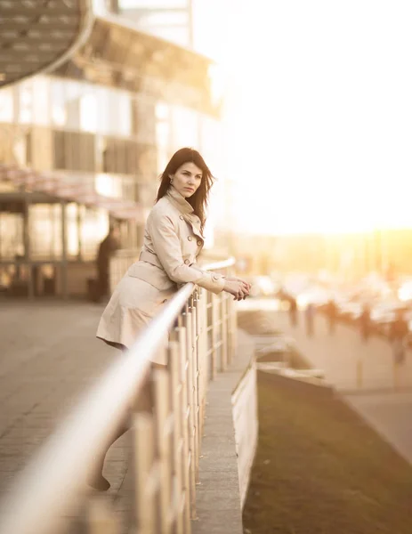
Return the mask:
<path id="1" fill-rule="evenodd" d="M 115 288 L 96 336 L 108 344 L 129 348 L 180 286 L 194 282 L 220 293 L 224 277 L 196 266 L 203 243 L 198 216 L 171 188 L 151 209 L 139 261 L 129 267 Z M 165 365 L 166 351 L 159 350 L 151 360 Z"/>

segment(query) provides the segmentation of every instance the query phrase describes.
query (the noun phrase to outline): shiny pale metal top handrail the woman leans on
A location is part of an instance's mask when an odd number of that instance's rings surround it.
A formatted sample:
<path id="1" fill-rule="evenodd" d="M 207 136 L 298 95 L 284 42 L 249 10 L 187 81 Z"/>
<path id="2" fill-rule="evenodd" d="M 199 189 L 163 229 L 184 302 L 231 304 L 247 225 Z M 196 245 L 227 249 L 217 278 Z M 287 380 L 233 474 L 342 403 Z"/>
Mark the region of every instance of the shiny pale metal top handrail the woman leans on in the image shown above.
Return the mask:
<path id="1" fill-rule="evenodd" d="M 222 270 L 233 264 L 234 260 L 230 258 L 207 265 L 206 269 Z M 0 534 L 56 532 L 61 516 L 77 506 L 79 495 L 85 490 L 78 473 L 90 469 L 93 459 L 101 451 L 101 443 L 113 435 L 118 421 L 133 407 L 136 392 L 149 374 L 150 356 L 159 349 L 182 308 L 187 306 L 194 288 L 193 283 L 187 283 L 174 295 L 125 356 L 107 369 L 20 473 L 4 500 Z M 197 339 L 193 336 L 191 343 Z M 197 373 L 198 369 L 193 376 Z M 199 424 L 201 426 L 202 422 Z M 193 460 L 197 461 L 196 458 Z"/>

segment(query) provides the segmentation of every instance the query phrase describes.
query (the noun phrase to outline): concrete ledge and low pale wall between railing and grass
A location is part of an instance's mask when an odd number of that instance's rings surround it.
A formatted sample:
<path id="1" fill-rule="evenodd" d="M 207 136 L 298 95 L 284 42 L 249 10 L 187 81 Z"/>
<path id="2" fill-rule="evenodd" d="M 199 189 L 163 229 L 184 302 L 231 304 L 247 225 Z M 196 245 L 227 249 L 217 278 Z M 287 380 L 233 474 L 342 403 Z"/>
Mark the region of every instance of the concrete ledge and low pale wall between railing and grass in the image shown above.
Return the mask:
<path id="1" fill-rule="evenodd" d="M 235 360 L 208 386 L 193 534 L 243 534 L 242 506 L 257 440 L 255 408 L 254 342 L 238 330 Z"/>

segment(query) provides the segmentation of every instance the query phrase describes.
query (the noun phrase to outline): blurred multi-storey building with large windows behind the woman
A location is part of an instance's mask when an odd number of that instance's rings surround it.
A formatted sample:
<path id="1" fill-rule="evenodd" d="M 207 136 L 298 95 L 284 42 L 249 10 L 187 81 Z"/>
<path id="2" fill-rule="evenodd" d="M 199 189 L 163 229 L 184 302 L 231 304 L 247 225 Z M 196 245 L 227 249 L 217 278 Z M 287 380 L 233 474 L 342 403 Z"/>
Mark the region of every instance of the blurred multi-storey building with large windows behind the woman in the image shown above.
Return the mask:
<path id="1" fill-rule="evenodd" d="M 85 295 L 112 221 L 141 246 L 174 150 L 219 160 L 210 67 L 107 15 L 53 73 L 0 90 L 0 290 Z"/>

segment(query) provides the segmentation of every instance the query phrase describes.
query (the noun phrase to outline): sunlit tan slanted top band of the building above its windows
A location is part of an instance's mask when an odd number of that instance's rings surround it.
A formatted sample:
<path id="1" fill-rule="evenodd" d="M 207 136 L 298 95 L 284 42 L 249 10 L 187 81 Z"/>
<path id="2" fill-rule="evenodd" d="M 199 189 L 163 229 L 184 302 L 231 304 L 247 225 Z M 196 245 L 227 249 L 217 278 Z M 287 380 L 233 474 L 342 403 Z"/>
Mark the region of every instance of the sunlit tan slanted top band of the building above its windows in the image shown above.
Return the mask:
<path id="1" fill-rule="evenodd" d="M 54 74 L 146 93 L 219 117 L 214 68 L 206 56 L 146 34 L 124 17 L 105 15 L 94 20 L 85 45 Z"/>

